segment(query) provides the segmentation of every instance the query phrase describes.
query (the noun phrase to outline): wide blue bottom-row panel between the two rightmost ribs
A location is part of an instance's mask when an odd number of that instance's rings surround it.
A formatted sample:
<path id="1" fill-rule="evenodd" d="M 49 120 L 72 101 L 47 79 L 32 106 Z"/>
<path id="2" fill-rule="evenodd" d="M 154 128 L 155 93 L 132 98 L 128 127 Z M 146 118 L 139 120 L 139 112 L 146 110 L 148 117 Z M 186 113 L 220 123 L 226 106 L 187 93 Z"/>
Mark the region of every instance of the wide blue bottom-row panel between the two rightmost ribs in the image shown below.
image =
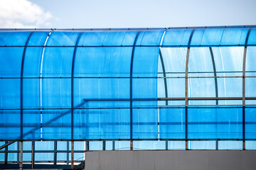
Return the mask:
<path id="1" fill-rule="evenodd" d="M 188 139 L 241 139 L 242 108 L 188 108 Z"/>

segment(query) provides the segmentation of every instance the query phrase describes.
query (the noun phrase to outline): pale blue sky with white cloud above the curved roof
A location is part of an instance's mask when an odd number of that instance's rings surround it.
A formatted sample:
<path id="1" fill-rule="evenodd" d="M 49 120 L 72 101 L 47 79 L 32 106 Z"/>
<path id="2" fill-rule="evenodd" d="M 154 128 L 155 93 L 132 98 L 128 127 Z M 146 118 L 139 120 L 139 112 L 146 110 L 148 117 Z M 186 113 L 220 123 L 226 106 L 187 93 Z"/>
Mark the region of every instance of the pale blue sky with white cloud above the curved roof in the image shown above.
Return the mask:
<path id="1" fill-rule="evenodd" d="M 256 0 L 0 0 L 0 28 L 256 25 Z"/>

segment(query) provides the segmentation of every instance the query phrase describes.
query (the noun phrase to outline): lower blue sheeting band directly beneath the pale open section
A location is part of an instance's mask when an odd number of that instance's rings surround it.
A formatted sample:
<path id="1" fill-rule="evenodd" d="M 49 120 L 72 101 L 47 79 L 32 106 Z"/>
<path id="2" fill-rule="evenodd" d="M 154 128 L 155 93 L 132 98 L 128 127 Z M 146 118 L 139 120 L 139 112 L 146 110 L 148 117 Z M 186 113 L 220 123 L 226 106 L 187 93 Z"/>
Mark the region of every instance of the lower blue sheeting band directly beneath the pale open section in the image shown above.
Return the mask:
<path id="1" fill-rule="evenodd" d="M 160 108 L 161 139 L 242 139 L 242 107 Z M 245 108 L 246 138 L 255 137 L 255 108 Z"/>

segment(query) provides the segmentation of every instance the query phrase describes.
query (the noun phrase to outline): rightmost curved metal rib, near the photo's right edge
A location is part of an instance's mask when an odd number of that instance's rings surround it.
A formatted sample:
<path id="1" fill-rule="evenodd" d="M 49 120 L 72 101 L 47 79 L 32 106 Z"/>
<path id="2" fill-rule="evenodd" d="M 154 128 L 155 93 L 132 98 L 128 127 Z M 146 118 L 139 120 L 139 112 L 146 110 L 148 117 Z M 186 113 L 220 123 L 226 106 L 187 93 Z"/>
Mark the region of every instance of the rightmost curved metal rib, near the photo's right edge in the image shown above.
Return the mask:
<path id="1" fill-rule="evenodd" d="M 245 66 L 247 54 L 247 42 L 250 35 L 251 28 L 248 30 L 245 39 L 245 50 L 242 60 L 242 149 L 245 150 Z"/>

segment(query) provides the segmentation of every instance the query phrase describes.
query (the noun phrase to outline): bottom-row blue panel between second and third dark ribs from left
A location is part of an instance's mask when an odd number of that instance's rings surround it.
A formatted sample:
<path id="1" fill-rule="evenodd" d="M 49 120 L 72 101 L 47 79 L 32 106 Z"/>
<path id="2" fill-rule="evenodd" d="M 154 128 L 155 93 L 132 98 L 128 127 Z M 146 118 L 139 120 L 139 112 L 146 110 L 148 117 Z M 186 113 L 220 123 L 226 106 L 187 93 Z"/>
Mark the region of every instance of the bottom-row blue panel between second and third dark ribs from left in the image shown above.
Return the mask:
<path id="1" fill-rule="evenodd" d="M 75 109 L 74 139 L 129 140 L 129 116 L 129 108 Z"/>

